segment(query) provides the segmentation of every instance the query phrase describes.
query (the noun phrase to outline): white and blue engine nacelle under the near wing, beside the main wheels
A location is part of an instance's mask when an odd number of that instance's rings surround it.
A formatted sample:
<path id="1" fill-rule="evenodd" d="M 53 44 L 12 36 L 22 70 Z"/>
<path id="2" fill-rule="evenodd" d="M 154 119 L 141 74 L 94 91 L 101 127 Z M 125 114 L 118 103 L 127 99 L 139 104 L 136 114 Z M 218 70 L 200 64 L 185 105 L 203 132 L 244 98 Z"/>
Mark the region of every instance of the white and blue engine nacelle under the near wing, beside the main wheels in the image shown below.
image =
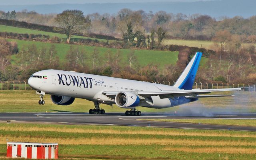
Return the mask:
<path id="1" fill-rule="evenodd" d="M 121 108 L 134 108 L 140 103 L 140 98 L 132 92 L 119 92 L 116 94 L 115 102 Z"/>

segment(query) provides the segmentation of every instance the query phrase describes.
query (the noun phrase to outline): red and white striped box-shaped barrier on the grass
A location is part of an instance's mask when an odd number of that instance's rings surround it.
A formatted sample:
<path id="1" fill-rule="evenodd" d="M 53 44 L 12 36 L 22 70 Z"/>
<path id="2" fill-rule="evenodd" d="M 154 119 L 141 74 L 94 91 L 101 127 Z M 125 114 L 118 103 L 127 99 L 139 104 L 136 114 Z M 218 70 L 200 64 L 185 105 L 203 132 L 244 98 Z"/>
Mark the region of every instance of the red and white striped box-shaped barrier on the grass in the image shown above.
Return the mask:
<path id="1" fill-rule="evenodd" d="M 7 142 L 7 157 L 58 159 L 58 143 Z"/>

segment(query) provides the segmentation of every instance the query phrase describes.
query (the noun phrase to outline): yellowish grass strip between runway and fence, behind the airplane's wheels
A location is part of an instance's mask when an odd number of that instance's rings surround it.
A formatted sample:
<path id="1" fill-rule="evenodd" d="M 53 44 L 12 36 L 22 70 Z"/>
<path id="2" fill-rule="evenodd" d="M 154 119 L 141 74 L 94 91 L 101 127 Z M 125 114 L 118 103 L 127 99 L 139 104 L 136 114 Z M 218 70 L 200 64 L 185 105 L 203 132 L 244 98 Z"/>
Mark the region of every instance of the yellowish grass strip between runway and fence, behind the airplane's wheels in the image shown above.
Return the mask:
<path id="1" fill-rule="evenodd" d="M 27 88 L 28 89 L 28 88 Z M 220 93 L 213 93 L 220 94 Z M 195 114 L 201 116 L 211 116 L 213 112 L 256 112 L 255 92 L 224 92 L 221 94 L 234 94 L 235 97 L 201 98 L 196 102 L 183 104 L 166 109 L 153 109 L 138 107 L 143 112 L 169 112 L 173 114 Z M 50 96 L 46 95 L 44 106 L 38 104 L 39 96 L 34 90 L 0 90 L 0 112 L 88 112 L 94 108 L 93 103 L 84 99 L 76 98 L 69 106 L 59 106 L 53 104 Z M 113 108 L 101 104 L 101 108 L 106 112 L 125 112 L 126 109 L 114 105 Z"/>

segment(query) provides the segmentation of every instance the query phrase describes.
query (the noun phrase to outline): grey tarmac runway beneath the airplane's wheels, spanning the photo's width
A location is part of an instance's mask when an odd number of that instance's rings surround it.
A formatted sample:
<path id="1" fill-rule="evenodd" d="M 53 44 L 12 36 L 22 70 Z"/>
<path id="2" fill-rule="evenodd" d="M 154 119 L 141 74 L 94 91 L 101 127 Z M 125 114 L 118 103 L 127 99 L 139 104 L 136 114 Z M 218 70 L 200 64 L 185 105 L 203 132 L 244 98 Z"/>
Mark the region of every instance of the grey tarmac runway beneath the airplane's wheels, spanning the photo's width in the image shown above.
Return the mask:
<path id="1" fill-rule="evenodd" d="M 190 124 L 179 122 L 148 121 L 146 119 L 256 119 L 256 114 L 216 114 L 212 117 L 176 115 L 174 113 L 147 113 L 142 116 L 124 116 L 124 113 L 106 113 L 105 115 L 91 115 L 88 113 L 0 113 L 0 121 L 30 122 L 42 124 L 65 125 L 118 125 L 144 126 L 183 129 L 211 129 L 211 130 L 240 130 L 256 131 L 256 127 L 228 126 L 212 124 Z"/>

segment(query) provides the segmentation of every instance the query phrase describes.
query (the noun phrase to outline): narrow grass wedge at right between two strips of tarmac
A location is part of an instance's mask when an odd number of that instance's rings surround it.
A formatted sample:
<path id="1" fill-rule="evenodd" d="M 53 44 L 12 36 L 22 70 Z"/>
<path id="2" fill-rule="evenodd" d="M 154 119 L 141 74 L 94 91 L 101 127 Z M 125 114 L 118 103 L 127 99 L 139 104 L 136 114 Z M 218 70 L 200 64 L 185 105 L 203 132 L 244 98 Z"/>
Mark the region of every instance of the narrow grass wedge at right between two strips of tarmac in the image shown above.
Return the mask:
<path id="1" fill-rule="evenodd" d="M 243 119 L 243 120 L 230 120 L 230 119 L 141 119 L 149 121 L 160 122 L 182 122 L 182 123 L 194 123 L 194 124 L 218 124 L 228 126 L 253 126 L 256 127 L 256 120 Z"/>

